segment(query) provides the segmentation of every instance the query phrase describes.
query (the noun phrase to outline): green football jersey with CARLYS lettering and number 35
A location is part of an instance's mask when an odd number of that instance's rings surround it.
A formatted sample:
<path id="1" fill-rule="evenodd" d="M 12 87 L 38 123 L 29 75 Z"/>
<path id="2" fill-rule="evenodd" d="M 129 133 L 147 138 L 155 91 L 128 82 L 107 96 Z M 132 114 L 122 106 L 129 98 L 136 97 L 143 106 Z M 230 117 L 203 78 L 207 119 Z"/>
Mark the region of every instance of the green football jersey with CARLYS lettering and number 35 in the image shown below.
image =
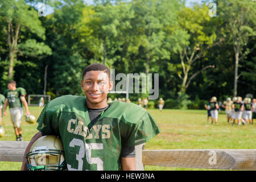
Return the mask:
<path id="1" fill-rule="evenodd" d="M 121 146 L 134 147 L 160 133 L 151 114 L 133 103 L 114 101 L 92 125 L 86 98 L 50 101 L 38 118 L 43 135 L 57 135 L 68 170 L 121 170 Z"/>

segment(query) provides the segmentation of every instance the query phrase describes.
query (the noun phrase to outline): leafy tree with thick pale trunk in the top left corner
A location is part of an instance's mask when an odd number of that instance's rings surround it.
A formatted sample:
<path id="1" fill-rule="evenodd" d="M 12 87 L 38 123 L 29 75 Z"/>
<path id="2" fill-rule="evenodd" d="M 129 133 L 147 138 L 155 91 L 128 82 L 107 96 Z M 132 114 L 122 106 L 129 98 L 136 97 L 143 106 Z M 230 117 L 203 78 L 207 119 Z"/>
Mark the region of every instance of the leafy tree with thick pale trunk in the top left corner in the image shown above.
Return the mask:
<path id="1" fill-rule="evenodd" d="M 30 31 L 41 39 L 45 39 L 44 28 L 39 20 L 38 12 L 23 0 L 3 0 L 0 2 L 1 28 L 6 35 L 9 54 L 9 79 L 13 78 L 13 71 L 17 61 L 19 38 L 26 31 Z M 40 45 L 40 44 L 39 44 Z"/>

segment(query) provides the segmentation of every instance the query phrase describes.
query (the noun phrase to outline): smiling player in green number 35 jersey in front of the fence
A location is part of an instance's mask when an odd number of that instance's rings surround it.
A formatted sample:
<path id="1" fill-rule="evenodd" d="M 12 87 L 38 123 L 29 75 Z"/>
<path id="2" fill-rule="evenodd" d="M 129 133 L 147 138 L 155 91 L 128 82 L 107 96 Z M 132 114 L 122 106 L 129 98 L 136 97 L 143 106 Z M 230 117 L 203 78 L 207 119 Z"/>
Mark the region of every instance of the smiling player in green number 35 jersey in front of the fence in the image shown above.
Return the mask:
<path id="1" fill-rule="evenodd" d="M 50 101 L 38 118 L 39 133 L 55 135 L 63 142 L 68 170 L 135 170 L 135 146 L 146 143 L 159 127 L 151 114 L 133 103 L 107 103 L 112 90 L 110 70 L 103 64 L 91 64 L 82 73 L 83 96 L 62 96 Z"/>

